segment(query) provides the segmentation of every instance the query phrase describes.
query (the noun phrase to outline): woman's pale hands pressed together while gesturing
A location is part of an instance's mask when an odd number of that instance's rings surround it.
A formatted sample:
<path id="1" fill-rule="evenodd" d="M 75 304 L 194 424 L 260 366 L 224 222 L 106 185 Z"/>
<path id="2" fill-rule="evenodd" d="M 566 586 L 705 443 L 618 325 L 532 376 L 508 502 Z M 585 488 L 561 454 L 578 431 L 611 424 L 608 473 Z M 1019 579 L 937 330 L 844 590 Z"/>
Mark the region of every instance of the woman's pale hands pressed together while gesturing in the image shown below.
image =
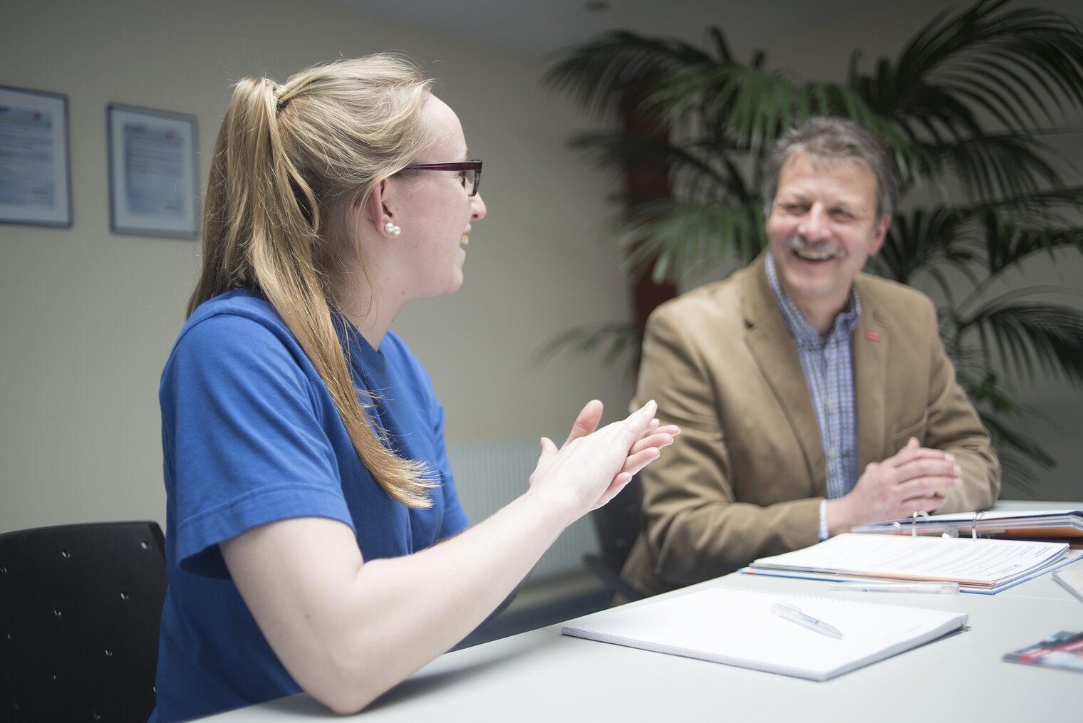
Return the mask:
<path id="1" fill-rule="evenodd" d="M 602 403 L 588 402 L 560 449 L 542 437 L 531 490 L 566 507 L 569 524 L 605 504 L 680 433 L 673 424 L 660 424 L 655 411 L 651 400 L 626 419 L 598 429 Z"/>

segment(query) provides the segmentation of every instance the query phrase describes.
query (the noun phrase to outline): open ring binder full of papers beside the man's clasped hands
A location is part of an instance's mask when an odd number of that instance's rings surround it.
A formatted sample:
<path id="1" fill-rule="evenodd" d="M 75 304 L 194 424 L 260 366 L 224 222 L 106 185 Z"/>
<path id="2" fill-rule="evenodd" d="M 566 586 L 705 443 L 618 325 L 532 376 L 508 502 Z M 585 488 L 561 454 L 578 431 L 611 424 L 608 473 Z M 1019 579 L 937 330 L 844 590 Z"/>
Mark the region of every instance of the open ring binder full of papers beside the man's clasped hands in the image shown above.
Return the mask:
<path id="1" fill-rule="evenodd" d="M 859 525 L 853 533 L 950 535 L 952 537 L 1073 538 L 1083 537 L 1083 511 L 960 512 L 916 520 L 888 520 Z"/>

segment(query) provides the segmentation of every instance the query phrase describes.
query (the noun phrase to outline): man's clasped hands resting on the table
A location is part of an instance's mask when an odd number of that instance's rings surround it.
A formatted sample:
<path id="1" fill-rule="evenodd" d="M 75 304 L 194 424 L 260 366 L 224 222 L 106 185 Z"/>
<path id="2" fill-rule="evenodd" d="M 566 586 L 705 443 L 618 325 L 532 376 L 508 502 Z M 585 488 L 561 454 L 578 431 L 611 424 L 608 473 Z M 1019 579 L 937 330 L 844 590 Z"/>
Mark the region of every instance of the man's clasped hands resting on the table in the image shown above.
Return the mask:
<path id="1" fill-rule="evenodd" d="M 909 517 L 918 510 L 932 512 L 944 503 L 942 494 L 962 484 L 963 470 L 954 457 L 922 447 L 911 437 L 893 457 L 866 466 L 848 495 L 827 501 L 828 533 L 838 535 L 854 525 Z"/>

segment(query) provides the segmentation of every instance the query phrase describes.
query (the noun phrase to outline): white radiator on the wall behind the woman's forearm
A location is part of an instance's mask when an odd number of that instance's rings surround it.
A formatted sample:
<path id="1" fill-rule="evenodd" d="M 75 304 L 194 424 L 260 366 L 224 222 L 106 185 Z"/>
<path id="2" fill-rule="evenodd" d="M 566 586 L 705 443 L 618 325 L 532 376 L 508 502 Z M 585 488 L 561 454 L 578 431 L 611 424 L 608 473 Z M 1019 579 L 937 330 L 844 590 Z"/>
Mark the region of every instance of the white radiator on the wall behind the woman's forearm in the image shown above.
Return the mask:
<path id="1" fill-rule="evenodd" d="M 526 490 L 539 451 L 537 439 L 447 446 L 455 488 L 471 525 Z M 597 552 L 598 539 L 588 515 L 564 530 L 538 561 L 531 580 L 582 571 L 583 555 Z"/>

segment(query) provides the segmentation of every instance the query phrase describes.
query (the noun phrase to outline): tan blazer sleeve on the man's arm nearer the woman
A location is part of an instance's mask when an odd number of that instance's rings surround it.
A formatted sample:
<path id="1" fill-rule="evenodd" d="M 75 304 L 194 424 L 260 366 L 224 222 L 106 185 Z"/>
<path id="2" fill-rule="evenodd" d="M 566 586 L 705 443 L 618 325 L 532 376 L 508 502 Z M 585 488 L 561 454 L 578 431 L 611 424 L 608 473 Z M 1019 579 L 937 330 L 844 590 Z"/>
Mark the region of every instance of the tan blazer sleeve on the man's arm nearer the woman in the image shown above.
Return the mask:
<path id="1" fill-rule="evenodd" d="M 705 358 L 705 337 L 718 338 L 728 330 L 696 333 L 694 323 L 673 306 L 655 311 L 643 339 L 634 406 L 648 399 L 658 403 L 658 419 L 681 428 L 671 447 L 640 475 L 643 531 L 634 557 L 647 557 L 651 573 L 666 587 L 683 586 L 731 573 L 753 560 L 788 552 L 819 541 L 822 498 L 808 498 L 807 475 L 762 481 L 768 504 L 742 502 L 731 479 L 729 445 L 755 444 L 748 435 L 767 430 L 726 430 L 720 406 L 726 404 L 725 384 L 712 373 L 717 366 Z M 700 325 L 710 327 L 712 325 Z M 740 338 L 740 333 L 732 334 Z M 712 354 L 718 351 L 712 349 Z M 731 369 L 742 373 L 740 363 Z M 739 383 L 731 382 L 730 383 Z M 759 481 L 756 484 L 760 484 Z M 795 499 L 796 498 L 796 499 Z M 630 561 L 632 562 L 632 561 Z M 632 562 L 645 566 L 643 561 Z M 653 594 L 648 570 L 626 567 L 626 579 Z M 653 582 L 657 582 L 654 580 Z"/>

